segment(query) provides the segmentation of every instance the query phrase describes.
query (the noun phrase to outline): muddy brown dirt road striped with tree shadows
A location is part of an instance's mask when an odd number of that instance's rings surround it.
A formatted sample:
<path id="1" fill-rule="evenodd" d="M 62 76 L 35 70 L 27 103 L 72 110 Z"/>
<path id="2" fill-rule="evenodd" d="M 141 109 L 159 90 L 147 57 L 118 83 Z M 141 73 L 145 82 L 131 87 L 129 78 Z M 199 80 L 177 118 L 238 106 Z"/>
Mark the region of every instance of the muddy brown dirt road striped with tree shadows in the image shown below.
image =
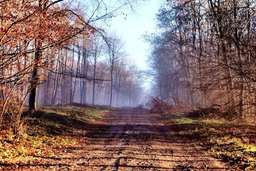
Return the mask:
<path id="1" fill-rule="evenodd" d="M 223 170 L 184 134 L 146 110 L 114 110 L 94 125 L 90 143 L 72 152 L 39 158 L 27 170 Z M 186 131 L 186 130 L 184 130 Z M 24 168 L 23 168 L 24 170 Z"/>

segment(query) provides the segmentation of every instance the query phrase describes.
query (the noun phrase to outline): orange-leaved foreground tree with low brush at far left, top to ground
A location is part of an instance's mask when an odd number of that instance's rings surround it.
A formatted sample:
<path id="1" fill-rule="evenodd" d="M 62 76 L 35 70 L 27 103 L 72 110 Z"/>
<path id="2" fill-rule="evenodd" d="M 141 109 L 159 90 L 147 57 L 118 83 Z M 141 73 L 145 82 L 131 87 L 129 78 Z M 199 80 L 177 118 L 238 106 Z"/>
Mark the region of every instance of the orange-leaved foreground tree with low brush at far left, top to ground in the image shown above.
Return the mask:
<path id="1" fill-rule="evenodd" d="M 19 139 L 26 97 L 45 80 L 43 71 L 50 69 L 58 48 L 90 29 L 73 20 L 74 13 L 65 5 L 51 1 L 1 1 L 0 5 L 0 124 L 7 114 Z"/>

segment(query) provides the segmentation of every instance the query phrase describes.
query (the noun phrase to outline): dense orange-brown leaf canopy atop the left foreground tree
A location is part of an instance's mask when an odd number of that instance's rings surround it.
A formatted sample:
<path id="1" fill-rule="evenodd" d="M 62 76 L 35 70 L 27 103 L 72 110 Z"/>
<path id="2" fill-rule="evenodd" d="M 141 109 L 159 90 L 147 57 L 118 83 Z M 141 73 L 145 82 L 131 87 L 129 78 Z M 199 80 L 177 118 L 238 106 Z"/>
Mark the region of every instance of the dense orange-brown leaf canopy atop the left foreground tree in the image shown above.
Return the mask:
<path id="1" fill-rule="evenodd" d="M 77 28 L 70 24 L 67 12 L 57 7 L 54 10 L 37 8 L 36 3 L 22 3 L 18 0 L 4 2 L 0 11 L 0 33 L 5 37 L 0 45 L 7 42 L 6 45 L 13 47 L 19 40 L 33 39 L 43 39 L 46 44 L 52 44 L 74 34 Z"/>

